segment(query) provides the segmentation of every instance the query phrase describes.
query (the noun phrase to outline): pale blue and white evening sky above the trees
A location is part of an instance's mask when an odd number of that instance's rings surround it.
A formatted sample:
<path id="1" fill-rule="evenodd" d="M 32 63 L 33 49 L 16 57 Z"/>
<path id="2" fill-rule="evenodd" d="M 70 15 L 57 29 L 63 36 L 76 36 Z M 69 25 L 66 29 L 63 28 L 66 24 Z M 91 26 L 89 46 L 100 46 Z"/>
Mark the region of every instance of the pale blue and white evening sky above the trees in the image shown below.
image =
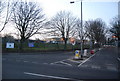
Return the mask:
<path id="1" fill-rule="evenodd" d="M 59 11 L 69 11 L 74 16 L 81 18 L 81 0 L 27 0 L 37 2 L 43 8 L 47 19 L 52 18 Z M 75 1 L 70 4 L 70 1 Z M 119 0 L 82 0 L 83 21 L 101 18 L 109 26 L 111 20 L 118 15 Z M 9 26 L 9 24 L 8 24 Z M 8 28 L 7 28 L 8 29 Z M 14 28 L 4 31 L 13 32 Z M 4 32 L 3 31 L 3 32 Z M 4 32 L 7 33 L 7 32 Z M 38 36 L 34 36 L 37 38 Z M 42 37 L 40 37 L 42 38 Z"/>

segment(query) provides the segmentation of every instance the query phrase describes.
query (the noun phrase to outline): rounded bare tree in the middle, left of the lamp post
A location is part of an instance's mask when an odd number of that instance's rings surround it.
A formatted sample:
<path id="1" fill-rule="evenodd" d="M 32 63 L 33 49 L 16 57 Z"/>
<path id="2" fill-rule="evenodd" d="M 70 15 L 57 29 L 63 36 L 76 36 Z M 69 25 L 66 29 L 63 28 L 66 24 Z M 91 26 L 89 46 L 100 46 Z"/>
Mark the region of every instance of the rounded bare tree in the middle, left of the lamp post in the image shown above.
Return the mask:
<path id="1" fill-rule="evenodd" d="M 66 49 L 67 41 L 75 34 L 76 18 L 70 12 L 60 11 L 49 22 L 50 34 L 61 37 Z"/>

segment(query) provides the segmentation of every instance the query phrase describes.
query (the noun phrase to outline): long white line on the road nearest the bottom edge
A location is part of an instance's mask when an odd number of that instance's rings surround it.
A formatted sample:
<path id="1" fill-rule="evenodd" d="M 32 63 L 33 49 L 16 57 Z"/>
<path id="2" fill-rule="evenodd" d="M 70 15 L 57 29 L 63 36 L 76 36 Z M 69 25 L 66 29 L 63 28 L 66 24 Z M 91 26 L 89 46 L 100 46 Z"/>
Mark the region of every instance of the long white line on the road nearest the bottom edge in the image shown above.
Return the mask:
<path id="1" fill-rule="evenodd" d="M 42 74 L 29 73 L 29 72 L 24 72 L 24 74 L 34 75 L 34 76 L 40 76 L 40 77 L 47 77 L 47 78 L 55 78 L 55 79 L 73 80 L 73 79 L 71 79 L 71 78 L 64 78 L 64 77 L 57 77 L 57 76 L 49 76 L 49 75 L 42 75 Z"/>

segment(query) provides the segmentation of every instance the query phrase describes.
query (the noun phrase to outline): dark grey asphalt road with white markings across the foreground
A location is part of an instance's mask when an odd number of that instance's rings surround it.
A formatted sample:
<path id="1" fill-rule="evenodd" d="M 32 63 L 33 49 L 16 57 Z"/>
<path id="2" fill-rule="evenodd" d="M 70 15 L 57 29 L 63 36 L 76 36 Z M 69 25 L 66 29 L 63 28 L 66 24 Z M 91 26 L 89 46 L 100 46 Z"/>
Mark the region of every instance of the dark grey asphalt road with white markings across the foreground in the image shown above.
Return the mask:
<path id="1" fill-rule="evenodd" d="M 104 48 L 84 60 L 72 60 L 72 52 L 3 54 L 3 79 L 119 79 L 118 52 Z"/>

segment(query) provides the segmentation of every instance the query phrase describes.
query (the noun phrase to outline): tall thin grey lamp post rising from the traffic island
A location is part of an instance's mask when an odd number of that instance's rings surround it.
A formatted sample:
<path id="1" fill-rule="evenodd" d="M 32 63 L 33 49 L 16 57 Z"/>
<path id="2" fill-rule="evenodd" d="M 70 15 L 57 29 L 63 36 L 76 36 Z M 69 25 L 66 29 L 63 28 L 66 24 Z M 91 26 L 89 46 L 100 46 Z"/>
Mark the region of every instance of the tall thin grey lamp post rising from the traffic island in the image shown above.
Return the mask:
<path id="1" fill-rule="evenodd" d="M 75 3 L 75 1 L 71 1 L 70 2 Z M 82 17 L 82 0 L 81 0 L 81 56 L 82 56 L 82 52 L 83 52 L 83 17 Z"/>

